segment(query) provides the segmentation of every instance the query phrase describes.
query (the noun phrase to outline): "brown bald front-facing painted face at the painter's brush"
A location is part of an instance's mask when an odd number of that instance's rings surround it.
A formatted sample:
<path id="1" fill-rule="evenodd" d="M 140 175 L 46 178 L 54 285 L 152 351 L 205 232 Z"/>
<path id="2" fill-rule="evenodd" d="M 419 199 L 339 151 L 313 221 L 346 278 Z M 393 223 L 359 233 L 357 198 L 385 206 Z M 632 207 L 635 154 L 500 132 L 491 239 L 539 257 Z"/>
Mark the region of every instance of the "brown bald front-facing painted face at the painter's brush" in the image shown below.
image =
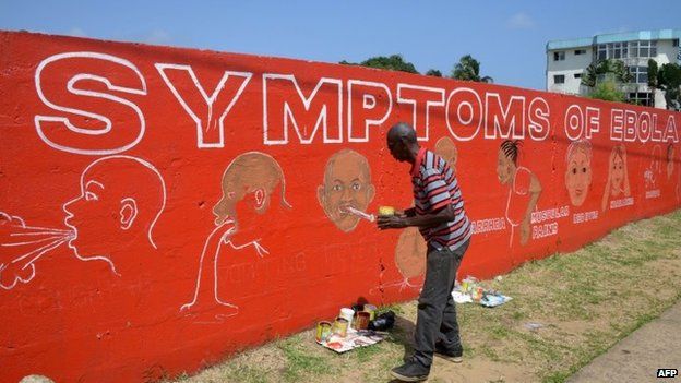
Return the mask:
<path id="1" fill-rule="evenodd" d="M 324 185 L 318 192 L 326 216 L 336 227 L 346 232 L 355 229 L 360 218 L 348 213 L 347 207 L 366 212 L 374 195 L 366 160 L 354 152 L 339 154 L 327 165 Z"/>

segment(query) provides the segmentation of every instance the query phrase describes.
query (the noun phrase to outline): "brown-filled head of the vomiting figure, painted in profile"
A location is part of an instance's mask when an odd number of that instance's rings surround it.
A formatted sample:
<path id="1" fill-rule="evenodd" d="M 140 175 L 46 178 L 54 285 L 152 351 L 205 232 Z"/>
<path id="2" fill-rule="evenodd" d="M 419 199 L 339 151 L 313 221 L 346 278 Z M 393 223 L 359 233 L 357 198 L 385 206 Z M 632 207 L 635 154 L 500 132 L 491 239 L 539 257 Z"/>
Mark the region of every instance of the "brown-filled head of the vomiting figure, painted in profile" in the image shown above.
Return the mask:
<path id="1" fill-rule="evenodd" d="M 248 152 L 229 163 L 223 173 L 223 196 L 213 207 L 215 225 L 235 222 L 239 226 L 237 204 L 249 198 L 258 214 L 264 214 L 272 195 L 280 187 L 280 205 L 291 208 L 286 201 L 286 179 L 279 164 L 272 156 L 260 152 Z"/>

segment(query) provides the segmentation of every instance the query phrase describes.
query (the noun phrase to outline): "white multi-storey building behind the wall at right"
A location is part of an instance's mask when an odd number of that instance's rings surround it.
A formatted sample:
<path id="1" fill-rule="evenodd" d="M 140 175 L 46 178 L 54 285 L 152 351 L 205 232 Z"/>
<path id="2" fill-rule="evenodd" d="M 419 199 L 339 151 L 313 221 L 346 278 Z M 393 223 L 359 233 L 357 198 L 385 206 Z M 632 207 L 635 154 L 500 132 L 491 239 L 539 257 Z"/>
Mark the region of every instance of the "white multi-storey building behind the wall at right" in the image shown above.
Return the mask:
<path id="1" fill-rule="evenodd" d="M 547 44 L 547 91 L 586 95 L 588 88 L 581 85 L 582 76 L 590 63 L 616 59 L 624 62 L 633 75 L 622 89 L 626 98 L 642 105 L 665 108 L 662 92 L 655 95 L 648 87 L 648 60 L 681 63 L 679 50 L 681 29 L 640 31 L 596 35 L 572 40 L 554 40 Z"/>

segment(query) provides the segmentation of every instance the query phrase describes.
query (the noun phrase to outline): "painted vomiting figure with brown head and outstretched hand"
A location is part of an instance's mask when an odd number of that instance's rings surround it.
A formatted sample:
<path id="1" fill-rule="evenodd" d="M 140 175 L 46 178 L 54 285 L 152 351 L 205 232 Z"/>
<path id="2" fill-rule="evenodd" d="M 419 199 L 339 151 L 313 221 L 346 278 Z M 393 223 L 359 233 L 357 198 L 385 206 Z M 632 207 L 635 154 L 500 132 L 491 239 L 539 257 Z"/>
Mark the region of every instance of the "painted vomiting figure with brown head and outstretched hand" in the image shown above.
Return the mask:
<path id="1" fill-rule="evenodd" d="M 180 312 L 207 312 L 208 318 L 194 321 L 198 324 L 222 323 L 239 313 L 239 307 L 219 297 L 218 261 L 226 246 L 227 249 L 243 251 L 252 248 L 258 256 L 263 258 L 270 251 L 261 243 L 262 238 L 237 238 L 248 228 L 246 217 L 237 215 L 237 204 L 249 203 L 256 215 L 263 215 L 271 208 L 272 198 L 279 190 L 279 204 L 289 210 L 286 201 L 286 180 L 279 164 L 270 155 L 248 152 L 237 156 L 225 169 L 222 179 L 223 196 L 213 207 L 215 228 L 206 238 L 199 259 L 199 272 L 191 301 L 180 307 Z M 274 207 L 274 206 L 273 206 Z M 217 303 L 217 307 L 215 306 Z"/>

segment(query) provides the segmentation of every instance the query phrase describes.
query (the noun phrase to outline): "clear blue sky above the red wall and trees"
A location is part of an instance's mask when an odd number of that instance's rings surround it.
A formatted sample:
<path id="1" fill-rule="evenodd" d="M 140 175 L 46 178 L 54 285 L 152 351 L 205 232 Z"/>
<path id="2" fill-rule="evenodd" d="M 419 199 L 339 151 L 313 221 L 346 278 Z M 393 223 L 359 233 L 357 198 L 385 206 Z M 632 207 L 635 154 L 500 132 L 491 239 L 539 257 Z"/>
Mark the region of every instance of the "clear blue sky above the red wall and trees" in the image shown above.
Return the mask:
<path id="1" fill-rule="evenodd" d="M 666 28 L 681 29 L 681 0 L 0 0 L 5 31 L 324 62 L 398 53 L 421 73 L 471 55 L 495 83 L 535 89 L 549 40 Z"/>

